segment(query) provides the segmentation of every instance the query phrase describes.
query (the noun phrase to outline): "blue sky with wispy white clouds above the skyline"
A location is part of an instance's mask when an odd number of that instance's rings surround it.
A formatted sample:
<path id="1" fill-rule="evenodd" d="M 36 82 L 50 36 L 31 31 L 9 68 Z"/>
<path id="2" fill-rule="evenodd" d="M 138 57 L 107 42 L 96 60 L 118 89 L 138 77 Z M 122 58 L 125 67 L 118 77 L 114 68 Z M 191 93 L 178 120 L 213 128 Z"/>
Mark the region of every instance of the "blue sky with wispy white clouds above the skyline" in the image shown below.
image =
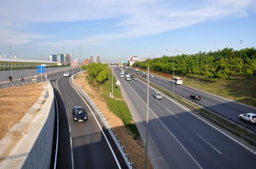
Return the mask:
<path id="1" fill-rule="evenodd" d="M 242 43 L 240 40 L 243 40 Z M 120 62 L 256 47 L 256 0 L 0 1 L 0 54 Z"/>

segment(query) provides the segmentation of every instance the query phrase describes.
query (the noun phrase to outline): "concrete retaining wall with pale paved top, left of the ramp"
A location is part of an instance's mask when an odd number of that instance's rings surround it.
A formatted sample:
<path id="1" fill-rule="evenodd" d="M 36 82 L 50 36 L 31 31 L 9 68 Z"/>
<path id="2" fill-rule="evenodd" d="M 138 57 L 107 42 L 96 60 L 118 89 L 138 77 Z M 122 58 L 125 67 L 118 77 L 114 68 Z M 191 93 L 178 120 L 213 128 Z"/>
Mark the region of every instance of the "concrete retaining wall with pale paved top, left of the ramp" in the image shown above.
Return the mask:
<path id="1" fill-rule="evenodd" d="M 45 82 L 43 88 L 39 99 L 23 119 L 0 141 L 0 168 L 50 167 L 55 119 L 54 94 L 49 82 Z"/>

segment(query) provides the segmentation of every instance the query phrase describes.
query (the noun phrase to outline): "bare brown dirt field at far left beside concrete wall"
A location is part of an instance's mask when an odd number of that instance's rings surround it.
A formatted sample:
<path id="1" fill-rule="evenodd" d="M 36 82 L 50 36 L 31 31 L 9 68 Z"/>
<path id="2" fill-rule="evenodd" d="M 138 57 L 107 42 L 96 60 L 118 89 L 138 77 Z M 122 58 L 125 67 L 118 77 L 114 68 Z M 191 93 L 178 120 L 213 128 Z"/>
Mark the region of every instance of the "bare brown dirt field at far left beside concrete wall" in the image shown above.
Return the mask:
<path id="1" fill-rule="evenodd" d="M 41 83 L 0 89 L 0 139 L 23 118 L 41 92 Z"/>

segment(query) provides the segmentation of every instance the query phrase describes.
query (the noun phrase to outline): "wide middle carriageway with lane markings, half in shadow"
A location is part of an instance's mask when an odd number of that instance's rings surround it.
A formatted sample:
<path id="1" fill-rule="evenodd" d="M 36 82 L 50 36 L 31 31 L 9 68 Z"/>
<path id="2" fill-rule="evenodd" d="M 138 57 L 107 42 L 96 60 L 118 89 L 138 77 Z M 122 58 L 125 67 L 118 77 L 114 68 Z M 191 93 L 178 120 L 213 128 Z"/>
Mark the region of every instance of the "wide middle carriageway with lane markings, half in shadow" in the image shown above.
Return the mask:
<path id="1" fill-rule="evenodd" d="M 147 86 L 114 72 L 145 123 Z M 151 88 L 148 131 L 169 168 L 255 168 L 254 147 L 166 97 L 154 99 L 154 92 Z"/>

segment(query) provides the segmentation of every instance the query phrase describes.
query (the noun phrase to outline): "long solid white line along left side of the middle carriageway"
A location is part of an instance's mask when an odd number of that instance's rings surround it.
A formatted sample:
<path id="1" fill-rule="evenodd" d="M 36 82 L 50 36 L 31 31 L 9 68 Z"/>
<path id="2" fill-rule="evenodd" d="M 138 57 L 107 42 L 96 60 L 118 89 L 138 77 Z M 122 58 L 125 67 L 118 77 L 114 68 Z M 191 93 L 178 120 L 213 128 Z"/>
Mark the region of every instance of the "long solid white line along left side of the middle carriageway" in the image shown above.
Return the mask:
<path id="1" fill-rule="evenodd" d="M 136 95 L 141 99 L 141 101 L 146 105 L 144 100 L 139 96 L 139 94 L 131 87 L 131 85 L 127 82 L 127 84 L 130 86 L 130 88 L 136 93 Z M 188 157 L 196 164 L 198 168 L 202 168 L 201 165 L 195 160 L 195 158 L 185 149 L 185 147 L 179 142 L 179 140 L 175 137 L 175 135 L 165 126 L 165 124 L 157 117 L 155 112 L 149 107 L 149 109 L 153 112 L 153 114 L 156 116 L 157 120 L 164 126 L 164 128 L 174 137 L 178 145 L 183 149 L 183 151 L 188 155 Z"/>

